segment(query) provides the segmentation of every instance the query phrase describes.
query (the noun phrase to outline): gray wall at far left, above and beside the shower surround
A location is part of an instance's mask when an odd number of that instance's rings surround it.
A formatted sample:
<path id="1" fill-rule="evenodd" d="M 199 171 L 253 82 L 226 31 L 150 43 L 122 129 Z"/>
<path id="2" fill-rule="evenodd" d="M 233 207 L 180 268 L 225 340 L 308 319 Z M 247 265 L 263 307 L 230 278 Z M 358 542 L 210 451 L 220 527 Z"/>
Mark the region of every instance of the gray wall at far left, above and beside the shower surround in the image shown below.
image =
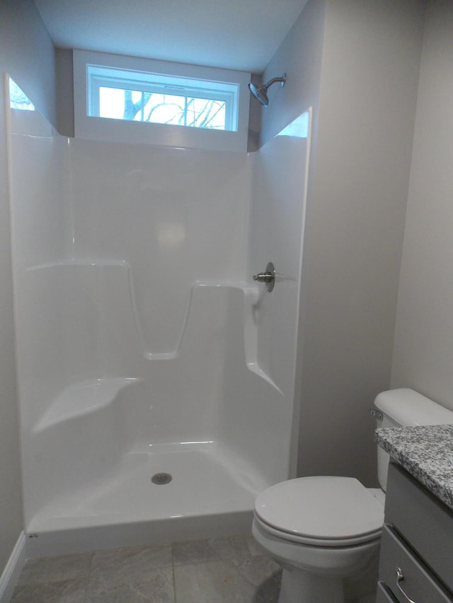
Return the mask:
<path id="1" fill-rule="evenodd" d="M 54 47 L 31 0 L 1 0 L 0 71 L 55 124 Z M 23 528 L 13 338 L 4 79 L 0 82 L 0 573 Z"/>

